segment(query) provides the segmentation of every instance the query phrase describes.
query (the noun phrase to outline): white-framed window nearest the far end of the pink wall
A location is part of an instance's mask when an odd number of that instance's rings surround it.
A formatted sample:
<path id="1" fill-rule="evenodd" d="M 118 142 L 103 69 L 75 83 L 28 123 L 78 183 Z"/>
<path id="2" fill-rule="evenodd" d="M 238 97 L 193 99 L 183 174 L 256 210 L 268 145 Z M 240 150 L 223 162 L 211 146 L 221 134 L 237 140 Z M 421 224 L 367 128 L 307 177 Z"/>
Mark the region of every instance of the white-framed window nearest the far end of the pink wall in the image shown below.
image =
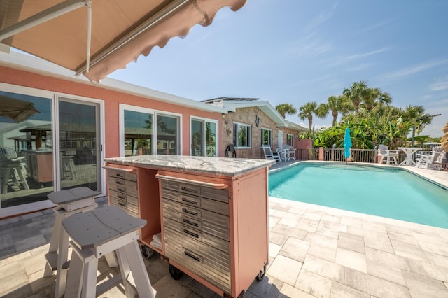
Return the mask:
<path id="1" fill-rule="evenodd" d="M 191 120 L 191 152 L 193 156 L 217 156 L 216 154 L 216 121 Z"/>

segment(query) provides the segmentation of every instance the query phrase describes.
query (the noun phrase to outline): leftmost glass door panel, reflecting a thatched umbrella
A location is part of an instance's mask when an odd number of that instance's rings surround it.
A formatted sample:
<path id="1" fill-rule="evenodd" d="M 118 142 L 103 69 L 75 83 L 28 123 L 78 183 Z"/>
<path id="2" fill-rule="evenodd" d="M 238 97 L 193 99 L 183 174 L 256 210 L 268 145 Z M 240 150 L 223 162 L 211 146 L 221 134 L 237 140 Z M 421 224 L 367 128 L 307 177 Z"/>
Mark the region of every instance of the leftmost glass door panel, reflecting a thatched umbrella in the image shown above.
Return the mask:
<path id="1" fill-rule="evenodd" d="M 1 208 L 47 200 L 54 190 L 51 102 L 0 91 Z"/>

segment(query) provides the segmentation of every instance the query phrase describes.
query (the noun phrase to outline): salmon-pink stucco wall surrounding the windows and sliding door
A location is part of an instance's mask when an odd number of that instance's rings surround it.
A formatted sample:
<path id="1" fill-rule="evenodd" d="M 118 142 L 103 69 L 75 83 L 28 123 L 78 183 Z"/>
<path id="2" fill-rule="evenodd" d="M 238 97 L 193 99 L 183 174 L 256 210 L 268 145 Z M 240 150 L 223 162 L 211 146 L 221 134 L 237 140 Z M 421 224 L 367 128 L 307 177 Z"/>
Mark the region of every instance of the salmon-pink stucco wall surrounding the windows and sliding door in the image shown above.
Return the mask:
<path id="1" fill-rule="evenodd" d="M 187 108 L 185 106 L 168 104 L 163 101 L 157 101 L 154 99 L 127 94 L 125 92 L 117 92 L 114 90 L 105 89 L 104 87 L 93 85 L 92 83 L 78 83 L 70 80 L 62 80 L 60 78 L 44 76 L 38 73 L 22 71 L 6 66 L 0 66 L 0 82 L 103 100 L 104 113 L 106 115 L 104 120 L 105 157 L 117 157 L 120 153 L 120 148 L 118 146 L 118 144 L 120 143 L 120 136 L 118 135 L 119 104 L 129 104 L 132 106 L 141 106 L 144 108 L 152 108 L 159 111 L 181 114 L 182 155 L 190 155 L 190 116 L 208 118 L 221 122 L 221 113 L 200 111 L 194 108 Z M 218 143 L 221 144 L 221 134 L 218 134 L 217 137 Z M 219 155 L 224 156 L 224 152 L 220 150 Z"/>

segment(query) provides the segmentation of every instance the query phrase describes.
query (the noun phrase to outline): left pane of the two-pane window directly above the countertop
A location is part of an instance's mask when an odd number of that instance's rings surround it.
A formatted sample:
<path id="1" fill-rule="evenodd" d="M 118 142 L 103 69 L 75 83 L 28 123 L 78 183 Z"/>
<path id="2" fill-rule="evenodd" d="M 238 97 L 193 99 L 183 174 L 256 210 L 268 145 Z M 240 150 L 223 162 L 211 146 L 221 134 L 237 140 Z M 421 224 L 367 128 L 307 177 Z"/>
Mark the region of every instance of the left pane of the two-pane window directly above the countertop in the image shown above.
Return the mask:
<path id="1" fill-rule="evenodd" d="M 152 154 L 153 115 L 125 110 L 125 156 Z"/>

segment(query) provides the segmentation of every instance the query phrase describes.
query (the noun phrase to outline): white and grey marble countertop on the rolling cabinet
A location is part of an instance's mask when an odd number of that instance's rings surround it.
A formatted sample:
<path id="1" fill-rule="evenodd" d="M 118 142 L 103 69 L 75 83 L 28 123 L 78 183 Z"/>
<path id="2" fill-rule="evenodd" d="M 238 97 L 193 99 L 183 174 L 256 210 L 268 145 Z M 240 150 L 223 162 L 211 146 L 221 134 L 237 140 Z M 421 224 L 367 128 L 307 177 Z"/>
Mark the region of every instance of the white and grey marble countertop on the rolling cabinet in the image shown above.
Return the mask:
<path id="1" fill-rule="evenodd" d="M 239 176 L 243 173 L 275 164 L 272 159 L 229 157 L 202 157 L 187 155 L 138 155 L 104 159 L 112 164 L 139 166 L 148 169 L 209 173 L 221 176 Z"/>

